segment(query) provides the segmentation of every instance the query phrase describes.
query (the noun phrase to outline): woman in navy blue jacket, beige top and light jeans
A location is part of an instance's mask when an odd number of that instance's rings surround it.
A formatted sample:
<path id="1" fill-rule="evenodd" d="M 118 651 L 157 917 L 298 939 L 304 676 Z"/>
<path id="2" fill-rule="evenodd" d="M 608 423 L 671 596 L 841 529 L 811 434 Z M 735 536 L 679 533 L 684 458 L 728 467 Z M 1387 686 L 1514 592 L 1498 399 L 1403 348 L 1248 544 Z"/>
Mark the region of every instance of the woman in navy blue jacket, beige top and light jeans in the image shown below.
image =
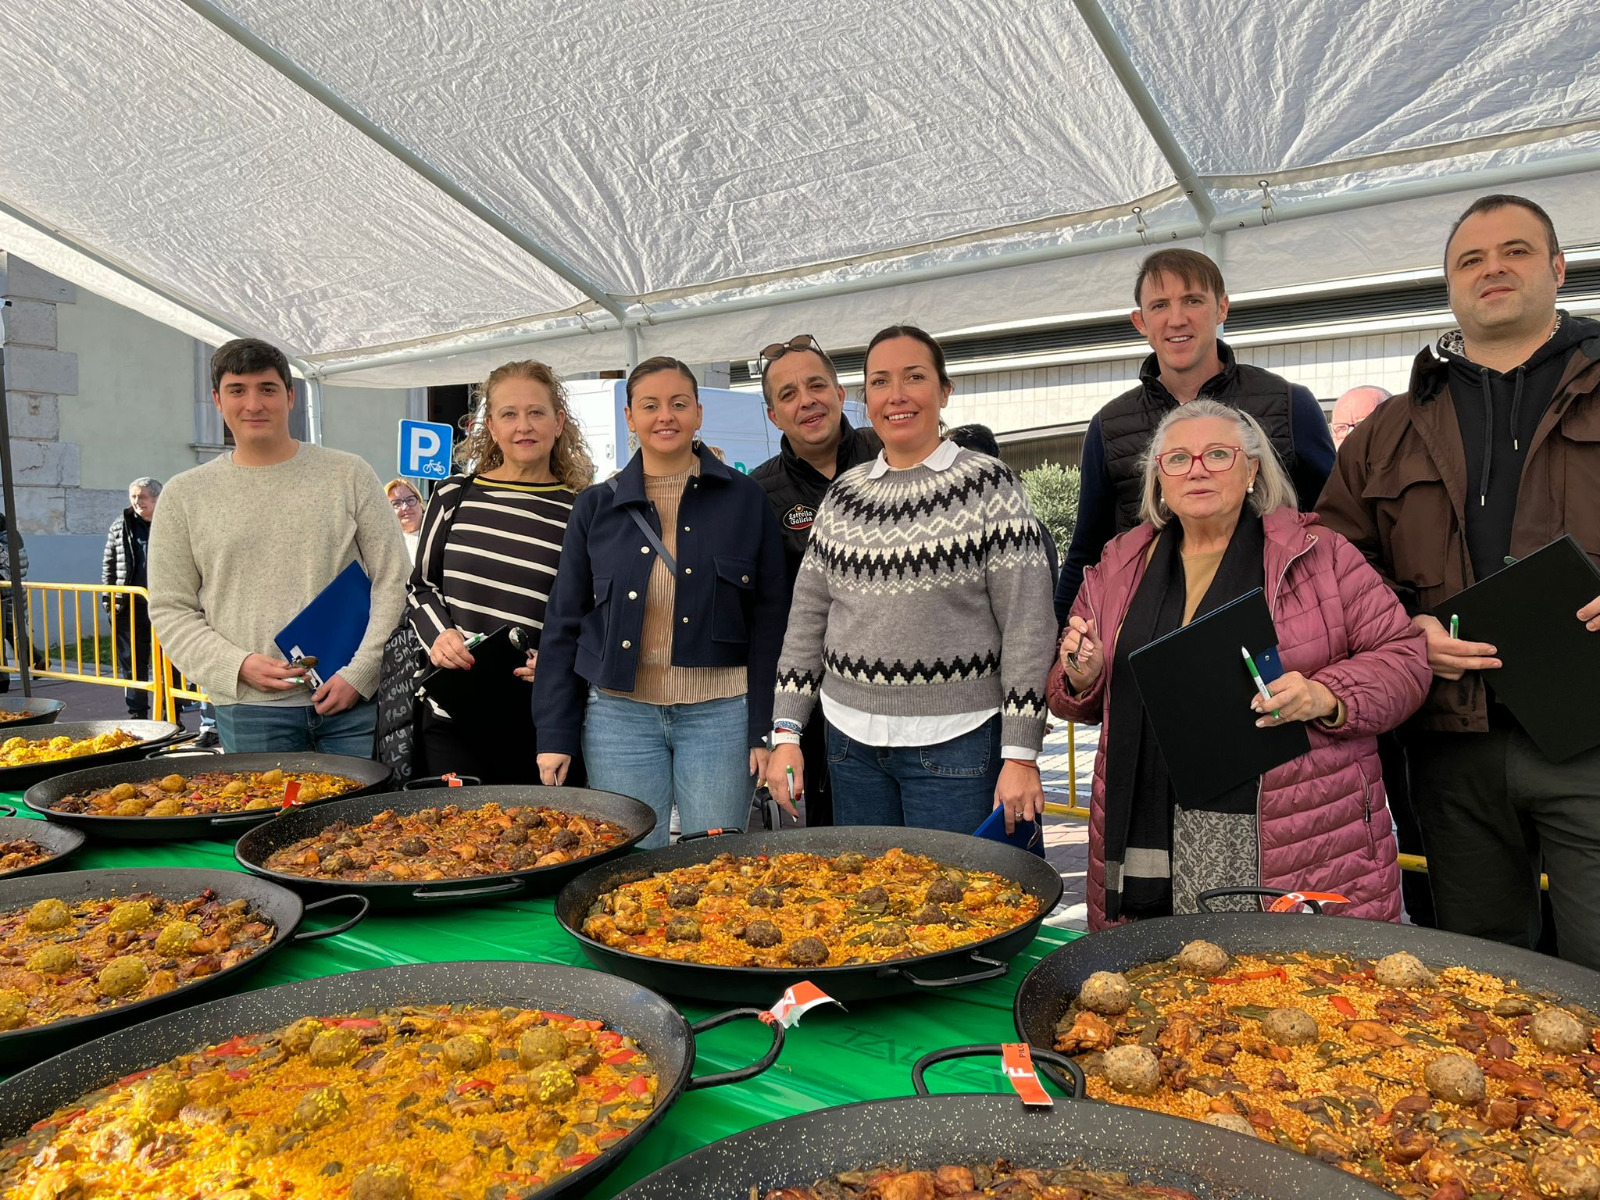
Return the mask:
<path id="1" fill-rule="evenodd" d="M 760 483 L 694 434 L 699 389 L 677 358 L 627 376 L 638 453 L 578 498 L 562 542 L 533 688 L 539 776 L 589 782 L 656 810 L 642 845 L 744 829 L 784 640 L 782 534 Z"/>

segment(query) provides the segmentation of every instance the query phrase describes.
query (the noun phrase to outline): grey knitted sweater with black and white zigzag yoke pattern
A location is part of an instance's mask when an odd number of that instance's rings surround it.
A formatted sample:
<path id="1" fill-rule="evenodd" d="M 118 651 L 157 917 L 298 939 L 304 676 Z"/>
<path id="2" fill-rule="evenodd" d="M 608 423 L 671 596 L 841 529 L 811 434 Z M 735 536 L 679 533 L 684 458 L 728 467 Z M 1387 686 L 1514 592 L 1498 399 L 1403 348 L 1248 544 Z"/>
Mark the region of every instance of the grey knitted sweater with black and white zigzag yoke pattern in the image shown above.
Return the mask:
<path id="1" fill-rule="evenodd" d="M 998 709 L 1002 744 L 1038 749 L 1056 618 L 1021 482 L 970 450 L 944 470 L 872 467 L 818 509 L 773 717 L 803 723 L 819 691 L 891 717 Z"/>

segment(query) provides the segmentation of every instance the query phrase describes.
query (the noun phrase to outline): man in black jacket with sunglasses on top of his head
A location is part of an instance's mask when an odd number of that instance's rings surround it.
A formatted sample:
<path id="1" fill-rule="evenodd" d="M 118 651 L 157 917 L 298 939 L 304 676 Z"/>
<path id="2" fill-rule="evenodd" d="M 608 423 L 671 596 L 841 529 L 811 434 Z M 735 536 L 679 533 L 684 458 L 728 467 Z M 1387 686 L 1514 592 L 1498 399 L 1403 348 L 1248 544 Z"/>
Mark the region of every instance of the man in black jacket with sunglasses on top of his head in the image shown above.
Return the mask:
<path id="1" fill-rule="evenodd" d="M 766 499 L 778 514 L 792 589 L 822 496 L 840 474 L 870 462 L 883 443 L 870 429 L 853 429 L 845 418 L 838 371 L 811 334 L 773 342 L 762 350 L 760 366 L 766 419 L 784 437 L 778 454 L 752 470 L 750 478 L 766 488 Z M 830 826 L 834 798 L 821 715 L 800 734 L 800 749 L 805 754 L 805 822 Z"/>

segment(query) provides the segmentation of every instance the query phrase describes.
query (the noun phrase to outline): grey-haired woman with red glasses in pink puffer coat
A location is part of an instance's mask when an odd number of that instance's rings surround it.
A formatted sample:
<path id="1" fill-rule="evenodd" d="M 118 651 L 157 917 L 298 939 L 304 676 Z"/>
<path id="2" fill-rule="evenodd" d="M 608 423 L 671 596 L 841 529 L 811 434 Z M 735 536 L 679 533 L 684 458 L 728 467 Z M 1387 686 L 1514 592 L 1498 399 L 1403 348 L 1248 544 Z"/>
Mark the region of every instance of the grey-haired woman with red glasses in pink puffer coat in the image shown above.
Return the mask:
<path id="1" fill-rule="evenodd" d="M 1101 725 L 1091 930 L 1192 912 L 1198 890 L 1227 885 L 1333 891 L 1350 901 L 1334 914 L 1400 918 L 1376 734 L 1422 704 L 1426 640 L 1362 554 L 1296 512 L 1293 496 L 1250 416 L 1190 402 L 1150 442 L 1147 520 L 1085 573 L 1048 701 L 1058 717 Z M 1256 701 L 1258 723 L 1306 722 L 1310 752 L 1189 811 L 1171 792 L 1126 658 L 1251 587 L 1264 589 L 1285 672 L 1272 706 Z"/>

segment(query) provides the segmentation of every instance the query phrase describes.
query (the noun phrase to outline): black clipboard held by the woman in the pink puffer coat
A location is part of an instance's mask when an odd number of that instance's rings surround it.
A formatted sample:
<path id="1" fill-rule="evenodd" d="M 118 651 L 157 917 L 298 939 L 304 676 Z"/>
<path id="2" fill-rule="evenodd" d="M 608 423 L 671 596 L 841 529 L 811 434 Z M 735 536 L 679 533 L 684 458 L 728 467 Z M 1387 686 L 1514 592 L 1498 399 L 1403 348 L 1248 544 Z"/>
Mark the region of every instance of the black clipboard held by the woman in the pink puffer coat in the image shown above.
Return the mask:
<path id="1" fill-rule="evenodd" d="M 1256 728 L 1256 685 L 1238 651 L 1277 643 L 1256 587 L 1128 656 L 1181 805 L 1202 805 L 1310 750 L 1304 722 Z"/>

